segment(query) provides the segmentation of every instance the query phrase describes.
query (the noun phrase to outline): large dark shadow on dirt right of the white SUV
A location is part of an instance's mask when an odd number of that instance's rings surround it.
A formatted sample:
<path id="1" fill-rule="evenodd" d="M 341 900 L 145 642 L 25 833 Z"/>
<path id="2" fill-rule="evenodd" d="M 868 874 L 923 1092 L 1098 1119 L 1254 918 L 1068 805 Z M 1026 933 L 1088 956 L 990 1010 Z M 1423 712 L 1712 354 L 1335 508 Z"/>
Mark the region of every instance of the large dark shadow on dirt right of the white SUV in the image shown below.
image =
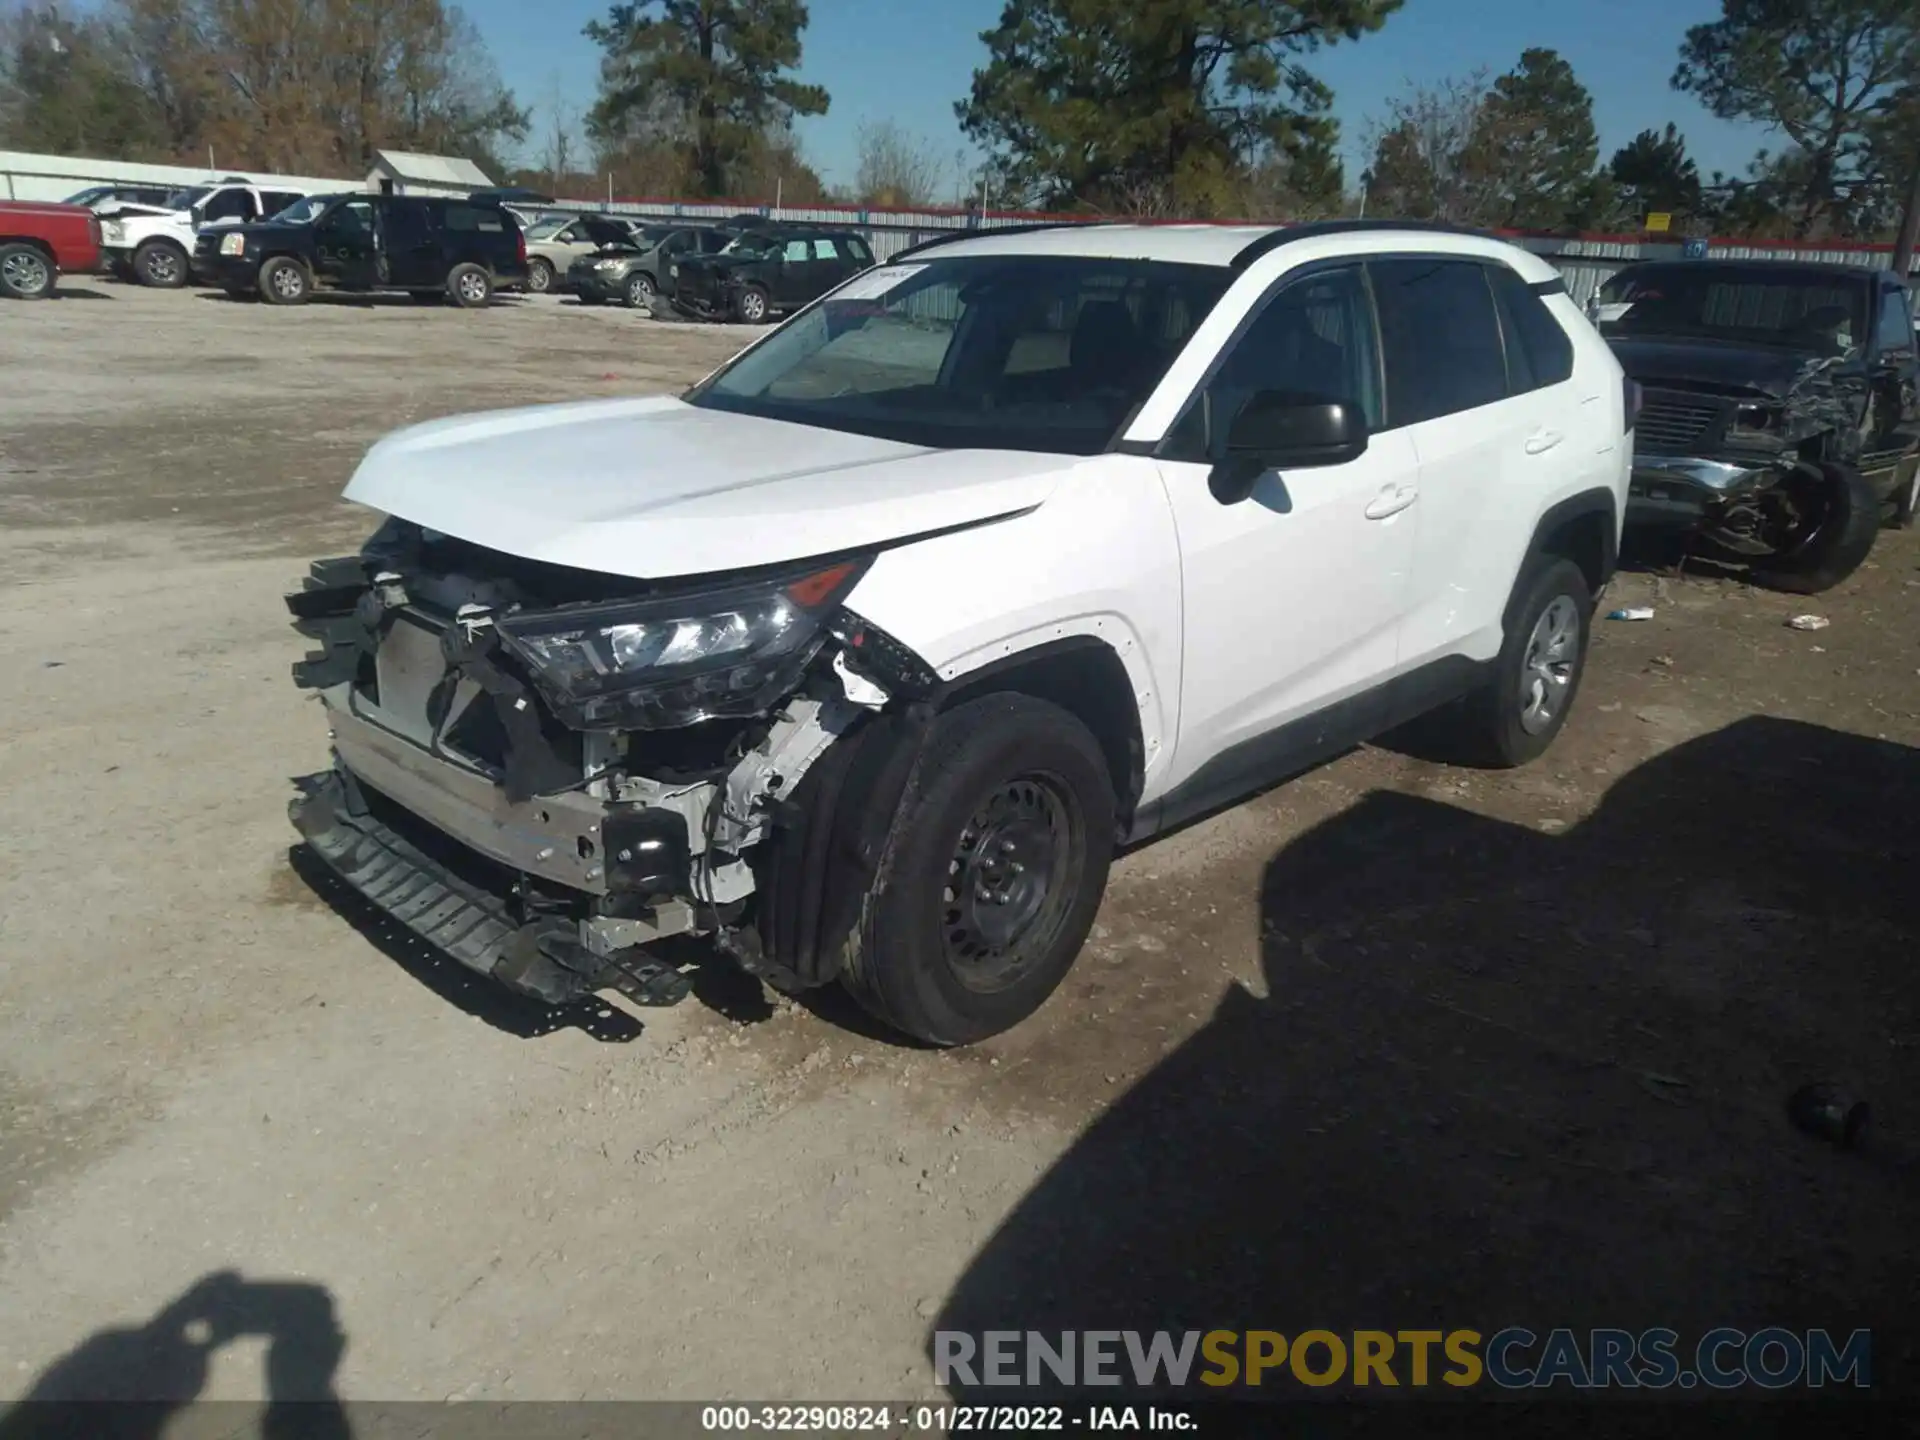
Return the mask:
<path id="1" fill-rule="evenodd" d="M 1916 816 L 1920 751 L 1766 718 L 1565 835 L 1371 795 L 1267 864 L 1265 996 L 1117 1100 L 933 1329 L 1870 1327 L 1872 1394 L 1912 1396 Z M 1788 1123 L 1822 1077 L 1878 1144 Z"/>

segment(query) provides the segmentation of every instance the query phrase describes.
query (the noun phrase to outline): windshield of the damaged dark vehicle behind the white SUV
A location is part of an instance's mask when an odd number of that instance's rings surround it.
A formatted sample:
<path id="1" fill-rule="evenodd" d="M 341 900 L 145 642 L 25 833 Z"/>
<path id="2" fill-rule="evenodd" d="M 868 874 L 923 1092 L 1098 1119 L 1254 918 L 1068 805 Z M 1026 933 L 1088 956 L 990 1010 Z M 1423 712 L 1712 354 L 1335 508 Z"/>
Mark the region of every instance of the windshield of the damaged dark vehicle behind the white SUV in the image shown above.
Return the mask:
<path id="1" fill-rule="evenodd" d="M 1843 355 L 1866 334 L 1866 286 L 1738 265 L 1640 267 L 1601 286 L 1599 330 Z"/>

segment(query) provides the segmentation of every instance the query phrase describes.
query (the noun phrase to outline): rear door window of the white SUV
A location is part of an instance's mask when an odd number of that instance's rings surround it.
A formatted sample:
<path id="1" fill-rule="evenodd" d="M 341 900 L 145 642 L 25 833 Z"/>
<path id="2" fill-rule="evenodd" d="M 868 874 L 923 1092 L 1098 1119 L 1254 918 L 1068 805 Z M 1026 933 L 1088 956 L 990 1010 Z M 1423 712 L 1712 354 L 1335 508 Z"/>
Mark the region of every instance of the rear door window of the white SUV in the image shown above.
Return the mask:
<path id="1" fill-rule="evenodd" d="M 1421 257 L 1369 265 L 1386 361 L 1386 426 L 1507 397 L 1507 355 L 1486 269 Z"/>

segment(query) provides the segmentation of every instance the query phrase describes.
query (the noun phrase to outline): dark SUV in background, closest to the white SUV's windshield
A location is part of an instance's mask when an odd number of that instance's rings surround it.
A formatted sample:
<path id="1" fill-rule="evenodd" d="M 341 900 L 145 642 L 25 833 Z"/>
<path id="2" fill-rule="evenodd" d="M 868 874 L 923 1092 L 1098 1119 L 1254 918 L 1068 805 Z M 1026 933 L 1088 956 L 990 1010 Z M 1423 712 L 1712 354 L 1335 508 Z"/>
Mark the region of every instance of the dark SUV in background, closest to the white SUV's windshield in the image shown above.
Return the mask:
<path id="1" fill-rule="evenodd" d="M 718 255 L 684 257 L 670 267 L 668 294 L 682 315 L 764 324 L 818 300 L 872 263 L 874 252 L 852 230 L 766 225 L 741 230 Z"/>

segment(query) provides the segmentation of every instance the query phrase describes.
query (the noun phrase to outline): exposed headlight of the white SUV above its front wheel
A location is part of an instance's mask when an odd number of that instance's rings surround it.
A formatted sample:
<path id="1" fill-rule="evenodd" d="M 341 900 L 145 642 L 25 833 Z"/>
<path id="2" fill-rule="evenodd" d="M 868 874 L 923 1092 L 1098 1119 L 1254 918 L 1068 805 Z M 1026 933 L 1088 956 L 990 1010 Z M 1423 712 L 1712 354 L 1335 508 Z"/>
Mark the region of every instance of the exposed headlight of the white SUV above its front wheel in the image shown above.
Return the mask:
<path id="1" fill-rule="evenodd" d="M 497 620 L 574 730 L 672 730 L 756 714 L 799 684 L 822 624 L 866 563 L 703 595 L 582 605 Z"/>

